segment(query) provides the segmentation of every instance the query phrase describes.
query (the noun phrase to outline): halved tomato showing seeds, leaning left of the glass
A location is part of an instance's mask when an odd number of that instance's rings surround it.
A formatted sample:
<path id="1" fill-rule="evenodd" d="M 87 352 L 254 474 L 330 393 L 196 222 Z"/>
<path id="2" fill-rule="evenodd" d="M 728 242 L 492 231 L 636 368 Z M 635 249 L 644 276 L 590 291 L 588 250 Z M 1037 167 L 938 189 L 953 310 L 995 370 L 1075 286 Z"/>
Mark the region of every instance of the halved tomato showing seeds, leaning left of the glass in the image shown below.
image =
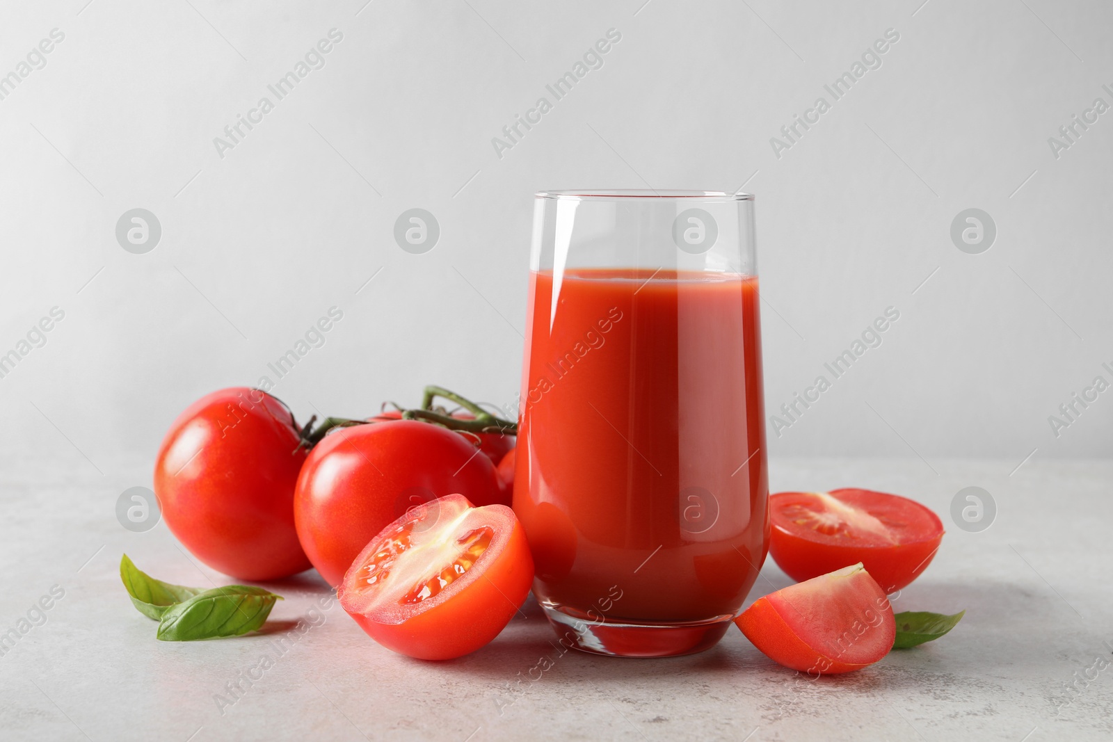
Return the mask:
<path id="1" fill-rule="evenodd" d="M 533 558 L 514 512 L 449 495 L 383 528 L 352 563 L 337 595 L 383 646 L 450 660 L 493 640 L 532 582 Z"/>

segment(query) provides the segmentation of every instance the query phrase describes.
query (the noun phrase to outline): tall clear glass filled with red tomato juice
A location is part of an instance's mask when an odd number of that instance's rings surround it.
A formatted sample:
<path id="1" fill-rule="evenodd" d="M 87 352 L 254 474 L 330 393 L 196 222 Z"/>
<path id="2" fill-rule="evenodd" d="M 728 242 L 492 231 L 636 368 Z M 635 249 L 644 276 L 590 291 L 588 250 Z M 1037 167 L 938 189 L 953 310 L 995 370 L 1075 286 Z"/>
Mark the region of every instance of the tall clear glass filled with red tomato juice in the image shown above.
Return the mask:
<path id="1" fill-rule="evenodd" d="M 534 202 L 514 511 L 562 645 L 715 645 L 769 546 L 754 197 Z"/>

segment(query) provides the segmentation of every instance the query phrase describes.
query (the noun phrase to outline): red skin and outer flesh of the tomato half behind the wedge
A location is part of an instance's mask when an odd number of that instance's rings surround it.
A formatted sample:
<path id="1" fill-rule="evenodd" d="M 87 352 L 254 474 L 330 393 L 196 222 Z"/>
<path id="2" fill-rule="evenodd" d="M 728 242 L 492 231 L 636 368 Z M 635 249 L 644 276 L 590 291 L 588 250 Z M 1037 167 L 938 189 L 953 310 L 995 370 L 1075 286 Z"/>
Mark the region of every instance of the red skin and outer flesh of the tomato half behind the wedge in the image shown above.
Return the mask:
<path id="1" fill-rule="evenodd" d="M 769 555 L 792 580 L 802 582 L 861 562 L 886 593 L 894 593 L 906 587 L 932 563 L 944 531 L 939 517 L 927 507 L 907 497 L 869 489 L 833 489 L 827 494 L 867 512 L 884 513 L 889 521 L 899 520 L 908 524 L 909 531 L 898 534 L 899 543 L 863 538 L 846 544 L 846 540 L 809 533 L 785 515 L 786 507 L 806 502 L 810 493 L 770 495 Z"/>

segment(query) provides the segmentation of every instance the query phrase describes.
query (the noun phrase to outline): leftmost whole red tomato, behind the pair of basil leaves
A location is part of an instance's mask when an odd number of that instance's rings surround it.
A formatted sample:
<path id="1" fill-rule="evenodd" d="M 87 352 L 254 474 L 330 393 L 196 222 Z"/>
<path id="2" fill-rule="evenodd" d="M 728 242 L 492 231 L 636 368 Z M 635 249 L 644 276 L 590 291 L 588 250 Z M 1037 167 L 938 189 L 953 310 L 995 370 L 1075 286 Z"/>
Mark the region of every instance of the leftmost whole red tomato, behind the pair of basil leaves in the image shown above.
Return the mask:
<path id="1" fill-rule="evenodd" d="M 198 560 L 239 580 L 308 570 L 294 528 L 294 486 L 305 461 L 299 428 L 278 399 L 246 387 L 191 404 L 155 464 L 155 494 L 170 532 Z"/>

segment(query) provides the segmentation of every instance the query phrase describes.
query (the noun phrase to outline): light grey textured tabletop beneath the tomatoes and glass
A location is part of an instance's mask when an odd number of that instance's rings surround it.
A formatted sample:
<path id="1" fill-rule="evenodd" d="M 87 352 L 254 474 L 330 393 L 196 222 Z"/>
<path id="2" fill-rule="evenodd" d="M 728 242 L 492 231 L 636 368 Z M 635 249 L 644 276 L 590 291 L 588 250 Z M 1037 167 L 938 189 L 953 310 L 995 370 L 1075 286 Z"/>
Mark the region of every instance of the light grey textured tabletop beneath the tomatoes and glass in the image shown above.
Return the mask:
<path id="1" fill-rule="evenodd" d="M 312 572 L 273 586 L 287 600 L 265 634 L 158 642 L 120 585 L 122 552 L 167 581 L 230 581 L 199 568 L 165 524 L 136 534 L 117 523 L 117 496 L 149 485 L 149 462 L 101 475 L 80 459 L 9 452 L 0 466 L 0 632 L 53 585 L 65 590 L 0 656 L 4 740 L 1113 739 L 1110 462 L 1035 458 L 1012 475 L 1016 462 L 932 462 L 938 474 L 918 459 L 772 462 L 775 491 L 856 485 L 933 507 L 943 547 L 895 607 L 966 609 L 934 644 L 817 682 L 733 629 L 686 657 L 561 656 L 532 601 L 484 650 L 422 663 L 374 644 L 335 603 L 311 611 L 328 594 Z M 997 505 L 981 533 L 949 516 L 968 485 Z M 788 582 L 769 562 L 751 598 Z M 273 666 L 260 673 L 265 655 Z M 531 680 L 542 657 L 552 666 Z M 258 680 L 235 699 L 226 685 L 245 674 Z"/>

